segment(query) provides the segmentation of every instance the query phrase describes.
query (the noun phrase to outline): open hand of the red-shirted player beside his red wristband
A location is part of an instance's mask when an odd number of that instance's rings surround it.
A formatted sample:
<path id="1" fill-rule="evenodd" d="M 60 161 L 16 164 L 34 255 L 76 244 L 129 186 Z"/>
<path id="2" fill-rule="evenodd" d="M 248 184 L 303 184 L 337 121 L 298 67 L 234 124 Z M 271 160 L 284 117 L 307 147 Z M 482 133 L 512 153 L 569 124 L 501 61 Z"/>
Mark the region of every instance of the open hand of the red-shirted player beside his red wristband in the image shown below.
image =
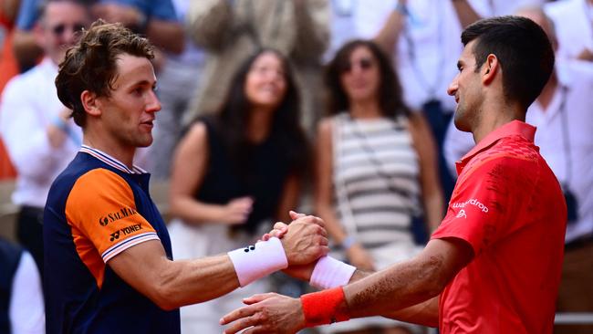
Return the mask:
<path id="1" fill-rule="evenodd" d="M 237 308 L 221 318 L 221 325 L 234 322 L 224 329 L 224 334 L 234 334 L 243 329 L 246 329 L 244 334 L 296 333 L 305 327 L 305 315 L 297 298 L 270 292 L 244 298 L 243 302 L 246 307 Z"/>

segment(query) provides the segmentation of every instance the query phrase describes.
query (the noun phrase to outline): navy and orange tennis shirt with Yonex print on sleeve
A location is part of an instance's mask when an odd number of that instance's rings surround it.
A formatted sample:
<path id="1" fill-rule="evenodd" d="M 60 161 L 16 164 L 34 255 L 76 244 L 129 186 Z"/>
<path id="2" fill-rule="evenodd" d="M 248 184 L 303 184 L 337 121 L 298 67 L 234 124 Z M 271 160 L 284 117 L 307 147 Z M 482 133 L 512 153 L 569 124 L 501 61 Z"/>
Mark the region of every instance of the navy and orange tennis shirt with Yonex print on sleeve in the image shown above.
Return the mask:
<path id="1" fill-rule="evenodd" d="M 44 213 L 47 333 L 179 333 L 165 311 L 107 266 L 133 245 L 171 241 L 149 195 L 150 174 L 82 146 L 52 184 Z"/>

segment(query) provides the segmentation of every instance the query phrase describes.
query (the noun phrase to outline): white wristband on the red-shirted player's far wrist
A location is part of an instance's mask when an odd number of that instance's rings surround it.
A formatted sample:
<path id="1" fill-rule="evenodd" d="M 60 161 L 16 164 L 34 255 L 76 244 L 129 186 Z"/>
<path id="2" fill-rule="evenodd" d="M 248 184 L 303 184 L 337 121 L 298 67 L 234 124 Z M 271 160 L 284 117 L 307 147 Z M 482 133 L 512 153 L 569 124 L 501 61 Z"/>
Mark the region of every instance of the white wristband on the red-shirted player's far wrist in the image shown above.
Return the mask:
<path id="1" fill-rule="evenodd" d="M 321 289 L 345 286 L 355 270 L 355 266 L 347 265 L 331 256 L 323 256 L 317 261 L 309 284 Z"/>

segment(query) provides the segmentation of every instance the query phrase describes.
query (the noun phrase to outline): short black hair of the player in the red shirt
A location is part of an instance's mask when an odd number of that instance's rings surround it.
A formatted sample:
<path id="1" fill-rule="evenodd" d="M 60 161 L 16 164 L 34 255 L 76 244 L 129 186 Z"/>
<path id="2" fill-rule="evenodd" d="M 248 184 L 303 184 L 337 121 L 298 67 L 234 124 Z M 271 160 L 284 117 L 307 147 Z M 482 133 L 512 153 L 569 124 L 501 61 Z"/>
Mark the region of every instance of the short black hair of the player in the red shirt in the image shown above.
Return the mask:
<path id="1" fill-rule="evenodd" d="M 526 110 L 554 69 L 554 49 L 546 32 L 528 18 L 498 16 L 467 26 L 463 46 L 474 39 L 475 71 L 494 54 L 503 69 L 505 99 L 519 102 Z"/>

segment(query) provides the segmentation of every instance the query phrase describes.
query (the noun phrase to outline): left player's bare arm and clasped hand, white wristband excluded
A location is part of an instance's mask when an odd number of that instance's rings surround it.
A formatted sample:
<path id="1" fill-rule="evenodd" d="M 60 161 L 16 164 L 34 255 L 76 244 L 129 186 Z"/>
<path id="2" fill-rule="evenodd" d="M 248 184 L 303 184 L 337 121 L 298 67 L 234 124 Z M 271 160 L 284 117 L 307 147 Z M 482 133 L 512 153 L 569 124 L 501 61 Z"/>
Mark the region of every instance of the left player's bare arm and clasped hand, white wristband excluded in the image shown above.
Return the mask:
<path id="1" fill-rule="evenodd" d="M 328 253 L 327 234 L 320 224 L 318 218 L 307 216 L 290 225 L 281 241 L 288 265 L 304 265 Z M 210 300 L 239 287 L 228 255 L 172 261 L 156 240 L 126 249 L 108 265 L 163 309 Z"/>

